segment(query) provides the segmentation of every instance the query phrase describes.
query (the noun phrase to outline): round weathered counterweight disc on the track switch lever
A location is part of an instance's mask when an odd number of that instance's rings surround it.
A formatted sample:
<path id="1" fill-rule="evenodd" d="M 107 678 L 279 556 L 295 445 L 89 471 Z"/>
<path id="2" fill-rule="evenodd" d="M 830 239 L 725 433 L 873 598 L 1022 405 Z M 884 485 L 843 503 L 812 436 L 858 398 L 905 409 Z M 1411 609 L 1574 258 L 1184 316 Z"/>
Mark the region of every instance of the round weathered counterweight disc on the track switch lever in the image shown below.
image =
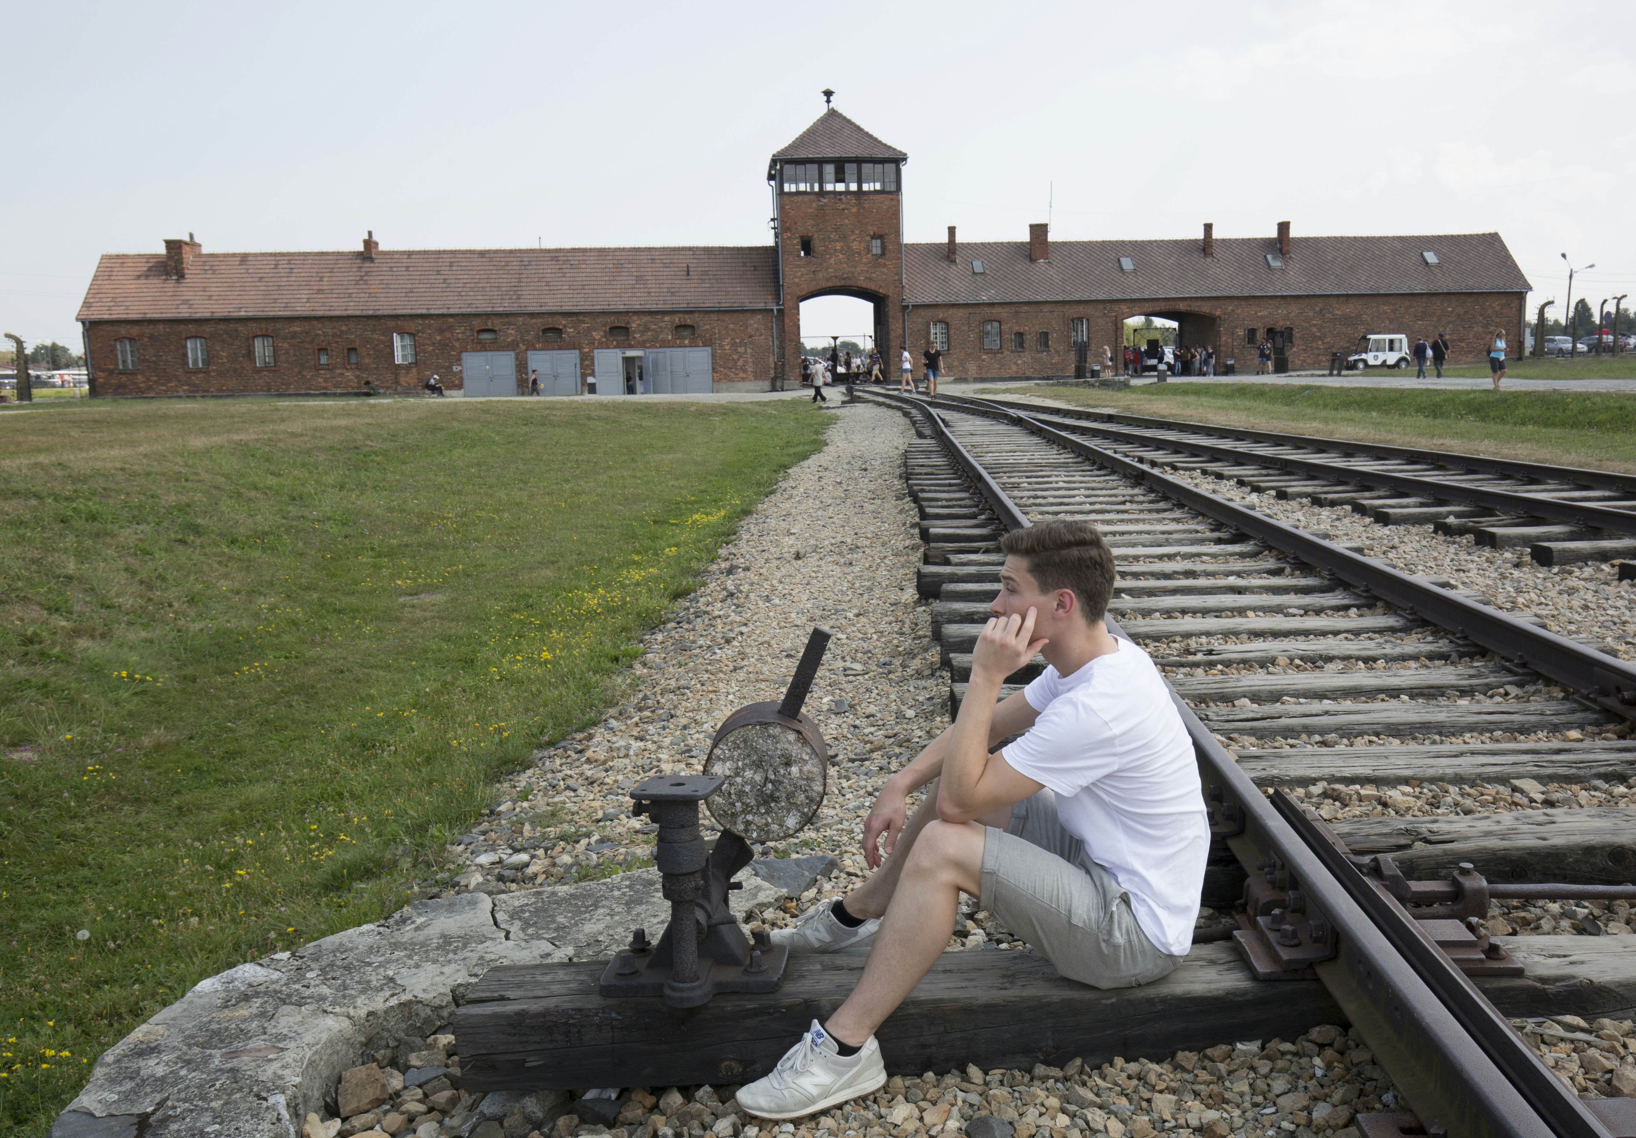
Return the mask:
<path id="1" fill-rule="evenodd" d="M 705 774 L 726 779 L 705 809 L 725 830 L 751 842 L 800 833 L 823 806 L 829 752 L 807 716 L 790 719 L 779 704 L 749 704 L 717 730 Z"/>

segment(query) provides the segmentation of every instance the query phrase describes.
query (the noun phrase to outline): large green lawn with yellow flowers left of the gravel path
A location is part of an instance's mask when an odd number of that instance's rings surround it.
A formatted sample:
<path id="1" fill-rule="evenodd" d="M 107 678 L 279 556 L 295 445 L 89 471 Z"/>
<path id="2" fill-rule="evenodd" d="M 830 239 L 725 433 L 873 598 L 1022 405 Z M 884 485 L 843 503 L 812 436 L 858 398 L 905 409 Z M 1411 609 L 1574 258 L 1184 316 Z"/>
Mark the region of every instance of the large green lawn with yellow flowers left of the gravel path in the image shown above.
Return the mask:
<path id="1" fill-rule="evenodd" d="M 401 905 L 823 429 L 802 401 L 0 416 L 0 1133 L 44 1135 L 201 978 Z"/>

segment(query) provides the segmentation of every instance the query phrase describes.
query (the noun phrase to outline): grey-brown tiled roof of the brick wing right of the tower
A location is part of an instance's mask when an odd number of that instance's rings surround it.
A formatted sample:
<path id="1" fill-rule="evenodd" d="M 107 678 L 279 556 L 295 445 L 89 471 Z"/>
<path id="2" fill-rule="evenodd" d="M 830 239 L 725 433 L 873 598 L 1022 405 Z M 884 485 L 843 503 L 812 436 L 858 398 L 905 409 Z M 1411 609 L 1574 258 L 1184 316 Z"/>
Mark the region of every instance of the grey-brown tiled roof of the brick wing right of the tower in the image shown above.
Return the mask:
<path id="1" fill-rule="evenodd" d="M 1276 237 L 1202 241 L 1052 241 L 1050 260 L 1032 262 L 1026 241 L 903 247 L 905 300 L 913 305 L 1147 300 L 1162 296 L 1320 296 L 1356 293 L 1528 291 L 1528 280 L 1497 233 L 1409 237 L 1301 237 L 1283 269 L 1266 264 Z M 1436 254 L 1427 264 L 1422 252 Z M 983 262 L 972 272 L 972 259 Z M 1121 272 L 1130 257 L 1134 272 Z"/>

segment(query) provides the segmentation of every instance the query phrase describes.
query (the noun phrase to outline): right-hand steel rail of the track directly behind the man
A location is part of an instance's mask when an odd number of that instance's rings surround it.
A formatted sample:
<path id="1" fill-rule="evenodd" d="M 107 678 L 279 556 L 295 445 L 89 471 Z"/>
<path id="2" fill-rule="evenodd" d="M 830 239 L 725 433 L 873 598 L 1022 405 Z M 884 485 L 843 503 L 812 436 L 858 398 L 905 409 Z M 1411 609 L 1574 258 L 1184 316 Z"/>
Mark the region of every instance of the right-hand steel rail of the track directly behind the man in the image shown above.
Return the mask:
<path id="1" fill-rule="evenodd" d="M 1533 668 L 1572 688 L 1598 711 L 1636 720 L 1636 666 L 1618 657 L 1587 648 L 1549 629 L 1535 627 L 1451 589 L 1415 580 L 1386 562 L 1312 537 L 1294 526 L 1286 526 L 1248 506 L 1189 486 L 1180 478 L 1104 450 L 1019 411 L 1000 406 L 985 408 L 980 400 L 970 400 L 951 409 L 1005 419 L 1032 431 L 1091 462 L 1117 470 L 1206 517 L 1250 534 L 1279 552 L 1291 553 L 1361 593 L 1456 632 L 1518 665 Z"/>

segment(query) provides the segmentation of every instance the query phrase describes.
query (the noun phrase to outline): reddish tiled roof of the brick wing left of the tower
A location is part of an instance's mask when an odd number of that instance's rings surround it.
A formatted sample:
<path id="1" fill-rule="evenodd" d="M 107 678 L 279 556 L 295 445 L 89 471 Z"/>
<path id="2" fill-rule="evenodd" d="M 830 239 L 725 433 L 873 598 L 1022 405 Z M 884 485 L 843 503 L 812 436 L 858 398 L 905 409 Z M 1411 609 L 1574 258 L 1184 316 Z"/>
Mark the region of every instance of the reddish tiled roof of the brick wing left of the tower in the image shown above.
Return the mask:
<path id="1" fill-rule="evenodd" d="M 103 254 L 79 319 L 772 308 L 772 246 Z"/>

